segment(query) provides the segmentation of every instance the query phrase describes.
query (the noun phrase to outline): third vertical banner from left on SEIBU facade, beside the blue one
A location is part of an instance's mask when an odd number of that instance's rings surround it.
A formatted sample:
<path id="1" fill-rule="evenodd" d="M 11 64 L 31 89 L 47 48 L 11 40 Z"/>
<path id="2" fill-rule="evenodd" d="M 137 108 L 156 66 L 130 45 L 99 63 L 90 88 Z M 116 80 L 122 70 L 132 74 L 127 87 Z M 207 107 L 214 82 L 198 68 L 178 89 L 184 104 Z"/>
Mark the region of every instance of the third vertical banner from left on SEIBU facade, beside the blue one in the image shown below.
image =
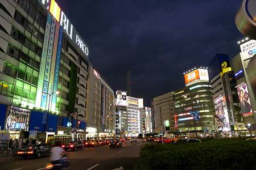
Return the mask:
<path id="1" fill-rule="evenodd" d="M 48 87 L 48 93 L 52 94 L 53 91 L 53 80 L 54 80 L 54 73 L 55 73 L 55 64 L 56 64 L 56 54 L 57 54 L 57 46 L 58 46 L 58 37 L 59 37 L 59 29 L 60 24 L 56 22 L 56 29 L 55 29 L 55 37 L 54 37 L 54 43 L 53 43 L 53 50 L 52 50 L 52 62 L 51 62 L 51 71 L 49 75 L 49 87 Z M 53 94 L 52 94 L 53 95 Z M 50 111 L 55 111 L 52 109 L 52 96 L 49 97 L 50 100 Z"/>

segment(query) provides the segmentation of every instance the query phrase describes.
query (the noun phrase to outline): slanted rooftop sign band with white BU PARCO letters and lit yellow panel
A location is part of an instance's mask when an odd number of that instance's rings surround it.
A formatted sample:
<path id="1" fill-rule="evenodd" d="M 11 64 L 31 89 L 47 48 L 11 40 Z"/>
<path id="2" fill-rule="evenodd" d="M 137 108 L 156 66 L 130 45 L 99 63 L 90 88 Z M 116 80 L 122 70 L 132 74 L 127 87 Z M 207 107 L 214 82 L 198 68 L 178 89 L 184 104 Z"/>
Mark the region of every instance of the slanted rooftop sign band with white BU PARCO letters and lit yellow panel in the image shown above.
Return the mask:
<path id="1" fill-rule="evenodd" d="M 39 0 L 47 8 L 47 10 L 52 14 L 52 16 L 60 23 L 61 27 L 67 32 L 69 38 L 75 42 L 78 48 L 88 56 L 89 49 L 86 46 L 85 42 L 81 39 L 79 33 L 76 31 L 76 28 L 73 28 L 72 23 L 69 21 L 64 12 L 60 9 L 59 5 L 55 0 Z"/>

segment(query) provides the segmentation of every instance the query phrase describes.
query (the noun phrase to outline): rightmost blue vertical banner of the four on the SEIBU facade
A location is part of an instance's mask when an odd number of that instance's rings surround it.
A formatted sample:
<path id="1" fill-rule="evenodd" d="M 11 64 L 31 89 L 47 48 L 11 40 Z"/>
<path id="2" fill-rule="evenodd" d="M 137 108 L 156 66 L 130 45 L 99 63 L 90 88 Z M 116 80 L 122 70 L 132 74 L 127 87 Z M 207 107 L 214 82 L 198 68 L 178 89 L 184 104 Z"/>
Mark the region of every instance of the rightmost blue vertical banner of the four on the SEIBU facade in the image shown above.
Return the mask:
<path id="1" fill-rule="evenodd" d="M 61 54 L 61 46 L 62 46 L 62 39 L 63 39 L 63 28 L 60 27 L 59 31 L 59 41 L 57 47 L 57 56 L 56 56 L 56 65 L 55 65 L 55 73 L 54 73 L 54 81 L 53 81 L 53 91 L 58 90 L 58 82 L 59 82 L 59 71 L 60 71 L 60 54 Z M 52 95 L 52 111 L 55 111 L 56 108 L 56 94 Z"/>

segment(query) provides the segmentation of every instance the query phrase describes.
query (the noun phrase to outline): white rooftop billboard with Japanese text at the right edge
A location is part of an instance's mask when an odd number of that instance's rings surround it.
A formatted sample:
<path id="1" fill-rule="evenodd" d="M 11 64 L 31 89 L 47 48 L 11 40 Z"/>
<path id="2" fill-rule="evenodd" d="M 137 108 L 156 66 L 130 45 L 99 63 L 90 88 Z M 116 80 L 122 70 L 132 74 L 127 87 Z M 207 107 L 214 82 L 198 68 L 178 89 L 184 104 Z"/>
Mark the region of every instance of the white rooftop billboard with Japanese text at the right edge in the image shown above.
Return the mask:
<path id="1" fill-rule="evenodd" d="M 253 57 L 256 54 L 256 40 L 250 40 L 241 44 L 240 49 L 243 60 Z"/>

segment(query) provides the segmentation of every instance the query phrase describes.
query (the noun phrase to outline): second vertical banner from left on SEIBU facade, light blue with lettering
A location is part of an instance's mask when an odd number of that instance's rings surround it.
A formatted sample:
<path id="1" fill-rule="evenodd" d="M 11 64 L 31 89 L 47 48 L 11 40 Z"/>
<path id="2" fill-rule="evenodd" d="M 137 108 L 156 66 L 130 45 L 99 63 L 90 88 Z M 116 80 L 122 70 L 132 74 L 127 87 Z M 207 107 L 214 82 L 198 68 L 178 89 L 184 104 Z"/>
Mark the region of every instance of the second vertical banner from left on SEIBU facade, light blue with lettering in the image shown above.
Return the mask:
<path id="1" fill-rule="evenodd" d="M 53 41 L 54 41 L 54 34 L 55 34 L 55 26 L 56 26 L 56 20 L 52 19 L 52 25 L 51 25 L 51 32 L 49 37 L 49 44 L 48 44 L 48 50 L 47 50 L 47 61 L 46 61 L 46 71 L 44 73 L 44 83 L 43 83 L 43 94 L 42 94 L 42 101 L 41 101 L 41 107 L 47 109 L 48 106 L 48 86 L 49 86 L 49 73 L 51 69 L 51 61 L 52 61 L 52 49 L 53 49 Z"/>

